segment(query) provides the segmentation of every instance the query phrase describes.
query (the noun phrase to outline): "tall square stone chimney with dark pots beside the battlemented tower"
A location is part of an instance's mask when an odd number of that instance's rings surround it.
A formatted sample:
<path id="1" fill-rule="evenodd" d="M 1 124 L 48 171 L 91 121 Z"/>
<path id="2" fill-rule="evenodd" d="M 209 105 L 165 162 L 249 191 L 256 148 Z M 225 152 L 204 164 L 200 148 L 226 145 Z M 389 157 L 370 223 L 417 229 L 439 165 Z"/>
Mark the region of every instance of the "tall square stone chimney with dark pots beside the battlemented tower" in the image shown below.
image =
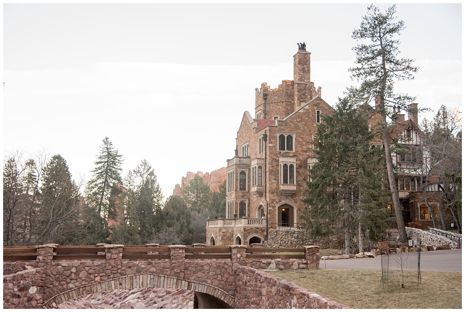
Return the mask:
<path id="1" fill-rule="evenodd" d="M 299 44 L 299 51 L 294 54 L 294 110 L 314 97 L 310 83 L 310 54 L 305 42 Z"/>

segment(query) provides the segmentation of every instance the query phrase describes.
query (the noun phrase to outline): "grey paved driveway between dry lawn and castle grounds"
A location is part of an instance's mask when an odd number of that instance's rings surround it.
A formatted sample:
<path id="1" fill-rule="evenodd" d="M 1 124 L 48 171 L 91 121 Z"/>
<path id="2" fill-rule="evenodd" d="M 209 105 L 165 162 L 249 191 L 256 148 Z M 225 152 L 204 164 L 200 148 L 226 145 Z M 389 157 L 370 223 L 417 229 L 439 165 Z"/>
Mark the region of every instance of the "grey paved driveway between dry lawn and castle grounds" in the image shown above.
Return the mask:
<path id="1" fill-rule="evenodd" d="M 320 260 L 325 268 L 325 260 Z M 339 259 L 326 260 L 327 269 L 381 269 L 381 259 Z M 462 272 L 462 249 L 426 251 L 420 255 L 420 271 Z"/>

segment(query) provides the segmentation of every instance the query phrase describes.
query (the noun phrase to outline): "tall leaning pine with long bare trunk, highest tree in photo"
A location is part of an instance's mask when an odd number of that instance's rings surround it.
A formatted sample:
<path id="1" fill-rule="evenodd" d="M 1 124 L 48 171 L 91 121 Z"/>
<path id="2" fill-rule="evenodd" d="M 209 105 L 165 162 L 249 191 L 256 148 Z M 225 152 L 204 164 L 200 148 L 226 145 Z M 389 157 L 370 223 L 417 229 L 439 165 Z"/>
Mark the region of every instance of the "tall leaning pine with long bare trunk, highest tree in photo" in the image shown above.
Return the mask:
<path id="1" fill-rule="evenodd" d="M 413 73 L 418 71 L 418 67 L 412 65 L 412 59 L 398 57 L 400 42 L 395 37 L 405 26 L 402 20 L 396 21 L 395 13 L 395 5 L 389 7 L 385 13 L 381 13 L 378 7 L 371 5 L 368 7 L 368 13 L 362 17 L 360 28 L 353 31 L 352 38 L 358 41 L 352 49 L 357 55 L 355 61 L 357 65 L 349 71 L 352 73 L 352 79 L 356 79 L 361 84 L 358 88 L 349 88 L 348 92 L 364 103 L 376 99 L 376 109 L 379 111 L 383 126 L 381 134 L 385 145 L 387 176 L 399 237 L 400 241 L 405 243 L 407 233 L 391 159 L 392 142 L 388 136 L 389 125 L 386 118 L 395 114 L 396 108 L 408 110 L 406 104 L 414 98 L 394 93 L 394 83 L 397 80 L 413 79 Z"/>

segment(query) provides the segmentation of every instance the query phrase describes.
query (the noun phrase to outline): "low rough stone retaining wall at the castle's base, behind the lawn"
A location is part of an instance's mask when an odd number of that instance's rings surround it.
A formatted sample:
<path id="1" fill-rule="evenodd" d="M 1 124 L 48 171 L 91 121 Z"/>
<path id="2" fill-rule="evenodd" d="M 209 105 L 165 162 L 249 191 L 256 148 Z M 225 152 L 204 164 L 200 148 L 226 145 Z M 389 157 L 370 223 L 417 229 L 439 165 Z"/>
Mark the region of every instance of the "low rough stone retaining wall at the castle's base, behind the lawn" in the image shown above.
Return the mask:
<path id="1" fill-rule="evenodd" d="M 264 242 L 264 247 L 272 248 L 300 248 L 309 245 L 319 245 L 322 248 L 343 248 L 344 237 L 332 235 L 329 238 L 308 239 L 305 230 L 268 230 L 268 241 Z"/>

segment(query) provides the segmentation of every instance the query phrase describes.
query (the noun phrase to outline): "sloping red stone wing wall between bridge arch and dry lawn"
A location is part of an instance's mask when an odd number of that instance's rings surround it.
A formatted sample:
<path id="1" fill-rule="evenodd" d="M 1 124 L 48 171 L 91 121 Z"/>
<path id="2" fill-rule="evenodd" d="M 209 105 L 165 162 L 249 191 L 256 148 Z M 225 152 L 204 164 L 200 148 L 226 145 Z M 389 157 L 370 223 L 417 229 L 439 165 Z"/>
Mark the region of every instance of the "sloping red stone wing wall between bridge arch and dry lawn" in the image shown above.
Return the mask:
<path id="1" fill-rule="evenodd" d="M 251 267 L 238 268 L 236 309 L 348 309 L 299 285 Z"/>

